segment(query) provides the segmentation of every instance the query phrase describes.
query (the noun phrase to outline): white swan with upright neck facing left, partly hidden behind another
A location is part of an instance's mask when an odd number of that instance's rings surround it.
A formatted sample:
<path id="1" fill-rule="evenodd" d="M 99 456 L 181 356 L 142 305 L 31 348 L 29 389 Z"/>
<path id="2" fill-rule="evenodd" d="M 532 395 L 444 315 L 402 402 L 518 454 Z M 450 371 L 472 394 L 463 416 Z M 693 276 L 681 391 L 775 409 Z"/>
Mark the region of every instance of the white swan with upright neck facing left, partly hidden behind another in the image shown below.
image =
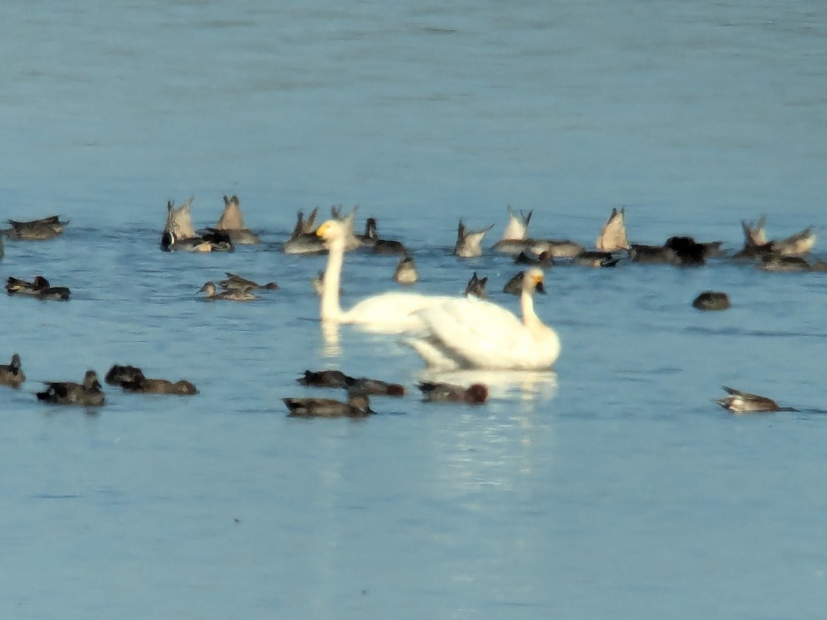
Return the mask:
<path id="1" fill-rule="evenodd" d="M 348 234 L 347 222 L 340 220 L 328 220 L 316 231 L 328 250 L 321 292 L 320 314 L 323 322 L 358 323 L 369 331 L 398 334 L 422 327 L 421 319 L 413 312 L 452 299 L 444 295 L 380 293 L 363 299 L 350 310 L 342 310 L 339 284 Z"/>

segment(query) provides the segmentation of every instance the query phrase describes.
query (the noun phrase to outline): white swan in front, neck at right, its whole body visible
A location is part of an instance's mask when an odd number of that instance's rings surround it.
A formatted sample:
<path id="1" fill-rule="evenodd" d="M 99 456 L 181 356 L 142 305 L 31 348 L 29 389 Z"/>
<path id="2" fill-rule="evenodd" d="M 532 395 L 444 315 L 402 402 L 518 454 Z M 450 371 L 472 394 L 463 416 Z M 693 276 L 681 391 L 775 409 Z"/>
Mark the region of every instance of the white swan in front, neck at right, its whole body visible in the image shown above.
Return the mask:
<path id="1" fill-rule="evenodd" d="M 528 269 L 520 296 L 523 321 L 495 303 L 468 297 L 416 312 L 425 336 L 407 341 L 425 362 L 442 370 L 546 370 L 560 355 L 560 339 L 534 313 L 533 292 L 543 290 L 543 269 Z"/>

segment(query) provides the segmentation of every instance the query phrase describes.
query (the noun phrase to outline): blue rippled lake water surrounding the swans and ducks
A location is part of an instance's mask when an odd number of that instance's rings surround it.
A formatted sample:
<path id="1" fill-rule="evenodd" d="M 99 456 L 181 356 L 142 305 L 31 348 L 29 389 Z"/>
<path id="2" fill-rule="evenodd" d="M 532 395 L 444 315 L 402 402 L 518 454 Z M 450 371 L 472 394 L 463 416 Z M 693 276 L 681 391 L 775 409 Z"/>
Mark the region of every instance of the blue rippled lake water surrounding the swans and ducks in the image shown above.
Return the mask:
<path id="1" fill-rule="evenodd" d="M 421 403 L 395 336 L 323 334 L 284 255 L 299 209 L 360 205 L 417 260 L 414 290 L 490 298 L 519 268 L 450 255 L 457 220 L 533 209 L 531 232 L 742 243 L 827 224 L 823 2 L 88 2 L 3 7 L 0 275 L 3 618 L 822 618 L 825 274 L 621 263 L 547 272 L 552 373 L 469 373 L 483 407 Z M 166 201 L 197 226 L 237 193 L 261 246 L 160 251 Z M 816 245 L 816 253 L 824 243 Z M 347 255 L 347 306 L 396 260 Z M 280 290 L 196 291 L 232 271 Z M 705 289 L 727 312 L 700 313 Z M 114 363 L 194 398 L 107 387 L 97 413 L 43 380 Z M 403 383 L 361 422 L 280 398 L 339 368 Z M 797 413 L 730 416 L 721 384 Z"/>

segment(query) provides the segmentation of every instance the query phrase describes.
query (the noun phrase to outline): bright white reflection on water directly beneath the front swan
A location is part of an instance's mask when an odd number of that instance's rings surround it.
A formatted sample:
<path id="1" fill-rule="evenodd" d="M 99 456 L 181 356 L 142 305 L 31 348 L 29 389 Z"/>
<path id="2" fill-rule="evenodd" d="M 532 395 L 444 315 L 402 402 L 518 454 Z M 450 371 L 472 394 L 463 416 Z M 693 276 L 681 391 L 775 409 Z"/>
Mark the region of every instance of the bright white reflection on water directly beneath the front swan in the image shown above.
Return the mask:
<path id="1" fill-rule="evenodd" d="M 457 385 L 485 384 L 489 399 L 519 398 L 550 400 L 557 393 L 557 373 L 553 370 L 452 370 L 425 369 L 423 381 Z"/>

